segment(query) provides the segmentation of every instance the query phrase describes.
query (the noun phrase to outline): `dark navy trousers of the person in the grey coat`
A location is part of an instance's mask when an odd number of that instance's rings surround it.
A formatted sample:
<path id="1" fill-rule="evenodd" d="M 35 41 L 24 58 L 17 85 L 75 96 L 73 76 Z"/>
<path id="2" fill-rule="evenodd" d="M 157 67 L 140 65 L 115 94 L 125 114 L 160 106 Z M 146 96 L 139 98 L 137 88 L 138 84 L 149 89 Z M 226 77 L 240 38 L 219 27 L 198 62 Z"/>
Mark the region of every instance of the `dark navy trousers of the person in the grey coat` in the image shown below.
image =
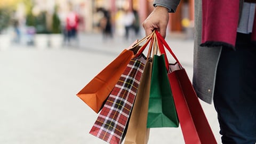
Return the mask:
<path id="1" fill-rule="evenodd" d="M 256 46 L 237 33 L 236 51 L 222 47 L 214 90 L 222 143 L 256 142 Z"/>

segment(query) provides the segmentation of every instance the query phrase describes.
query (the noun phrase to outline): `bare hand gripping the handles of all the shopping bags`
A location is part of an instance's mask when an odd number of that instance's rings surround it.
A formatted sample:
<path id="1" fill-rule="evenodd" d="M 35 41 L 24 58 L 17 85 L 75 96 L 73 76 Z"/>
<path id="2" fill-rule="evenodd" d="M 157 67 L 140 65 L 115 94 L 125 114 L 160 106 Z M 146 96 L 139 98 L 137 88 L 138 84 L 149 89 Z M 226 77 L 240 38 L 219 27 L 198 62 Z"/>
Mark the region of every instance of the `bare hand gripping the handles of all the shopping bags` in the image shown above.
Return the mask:
<path id="1" fill-rule="evenodd" d="M 148 18 L 142 23 L 146 36 L 150 35 L 154 29 L 157 29 L 165 38 L 168 21 L 168 9 L 163 6 L 156 6 L 153 12 L 151 12 Z"/>

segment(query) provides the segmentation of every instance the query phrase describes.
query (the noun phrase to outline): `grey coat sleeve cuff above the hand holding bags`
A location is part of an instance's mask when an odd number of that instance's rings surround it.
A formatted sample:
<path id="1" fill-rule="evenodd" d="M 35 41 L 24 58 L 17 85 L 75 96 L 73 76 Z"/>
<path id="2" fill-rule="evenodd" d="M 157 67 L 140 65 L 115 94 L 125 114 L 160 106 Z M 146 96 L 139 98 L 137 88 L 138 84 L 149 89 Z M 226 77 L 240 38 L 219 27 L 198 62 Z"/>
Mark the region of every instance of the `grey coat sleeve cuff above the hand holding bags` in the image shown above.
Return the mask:
<path id="1" fill-rule="evenodd" d="M 167 9 L 169 9 L 169 12 L 175 12 L 179 3 L 180 0 L 155 0 L 154 6 L 161 5 L 167 7 Z"/>

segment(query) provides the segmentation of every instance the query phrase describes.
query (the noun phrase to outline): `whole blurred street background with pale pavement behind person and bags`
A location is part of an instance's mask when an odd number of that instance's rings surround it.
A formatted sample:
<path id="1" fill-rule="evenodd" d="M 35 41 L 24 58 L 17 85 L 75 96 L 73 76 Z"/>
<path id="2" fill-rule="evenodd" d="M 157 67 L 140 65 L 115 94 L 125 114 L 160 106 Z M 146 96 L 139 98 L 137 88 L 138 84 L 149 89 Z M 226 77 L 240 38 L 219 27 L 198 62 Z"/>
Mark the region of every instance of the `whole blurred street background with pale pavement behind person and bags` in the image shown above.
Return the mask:
<path id="1" fill-rule="evenodd" d="M 76 93 L 145 36 L 153 9 L 153 0 L 0 0 L 0 143 L 106 143 L 89 134 L 98 115 Z M 181 0 L 165 38 L 190 79 L 193 13 Z M 220 143 L 214 107 L 202 106 Z M 149 143 L 185 142 L 179 127 L 151 129 Z"/>

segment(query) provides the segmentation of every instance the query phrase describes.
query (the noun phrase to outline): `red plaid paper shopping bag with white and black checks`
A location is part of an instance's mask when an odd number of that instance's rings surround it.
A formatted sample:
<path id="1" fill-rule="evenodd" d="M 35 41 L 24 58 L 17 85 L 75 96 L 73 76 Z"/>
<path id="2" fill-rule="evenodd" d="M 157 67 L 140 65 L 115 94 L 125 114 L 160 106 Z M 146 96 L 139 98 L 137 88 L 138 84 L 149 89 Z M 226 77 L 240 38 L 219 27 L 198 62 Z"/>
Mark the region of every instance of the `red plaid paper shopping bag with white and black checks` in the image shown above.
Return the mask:
<path id="1" fill-rule="evenodd" d="M 140 57 L 127 65 L 94 123 L 92 135 L 108 143 L 122 142 L 145 63 L 145 58 Z"/>

